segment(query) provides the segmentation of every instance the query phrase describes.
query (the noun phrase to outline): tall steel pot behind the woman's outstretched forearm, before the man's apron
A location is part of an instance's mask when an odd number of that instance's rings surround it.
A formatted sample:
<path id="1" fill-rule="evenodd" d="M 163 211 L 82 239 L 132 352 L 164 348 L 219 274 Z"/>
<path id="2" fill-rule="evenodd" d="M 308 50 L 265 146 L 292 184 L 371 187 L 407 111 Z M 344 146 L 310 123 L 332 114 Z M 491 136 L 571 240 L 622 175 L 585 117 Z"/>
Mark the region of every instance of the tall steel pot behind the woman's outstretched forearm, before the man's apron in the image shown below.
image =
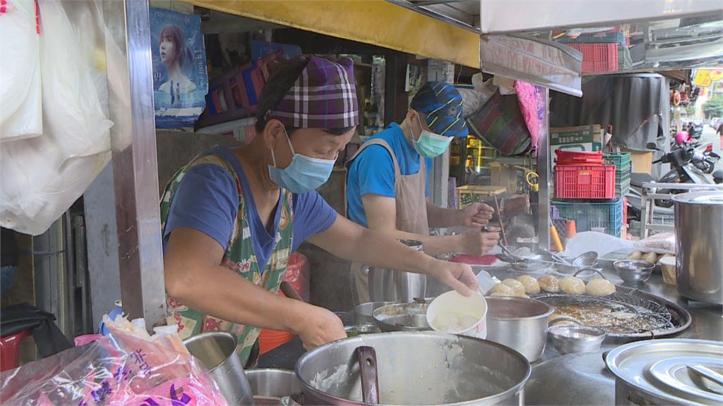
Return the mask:
<path id="1" fill-rule="evenodd" d="M 420 241 L 399 242 L 416 251 L 423 251 Z M 369 298 L 372 302 L 411 302 L 414 298 L 424 298 L 426 290 L 426 275 L 369 267 Z"/>

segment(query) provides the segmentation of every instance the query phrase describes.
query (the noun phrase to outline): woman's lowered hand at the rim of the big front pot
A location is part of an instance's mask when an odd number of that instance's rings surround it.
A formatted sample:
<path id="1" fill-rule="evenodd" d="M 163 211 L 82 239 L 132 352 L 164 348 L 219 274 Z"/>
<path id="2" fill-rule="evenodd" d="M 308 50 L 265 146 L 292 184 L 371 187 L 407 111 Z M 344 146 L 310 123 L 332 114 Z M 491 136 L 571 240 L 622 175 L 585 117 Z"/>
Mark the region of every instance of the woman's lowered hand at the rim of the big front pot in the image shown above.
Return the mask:
<path id="1" fill-rule="evenodd" d="M 300 321 L 296 334 L 299 334 L 307 350 L 346 338 L 344 324 L 338 316 L 325 308 L 312 305 L 304 308 L 304 320 Z"/>

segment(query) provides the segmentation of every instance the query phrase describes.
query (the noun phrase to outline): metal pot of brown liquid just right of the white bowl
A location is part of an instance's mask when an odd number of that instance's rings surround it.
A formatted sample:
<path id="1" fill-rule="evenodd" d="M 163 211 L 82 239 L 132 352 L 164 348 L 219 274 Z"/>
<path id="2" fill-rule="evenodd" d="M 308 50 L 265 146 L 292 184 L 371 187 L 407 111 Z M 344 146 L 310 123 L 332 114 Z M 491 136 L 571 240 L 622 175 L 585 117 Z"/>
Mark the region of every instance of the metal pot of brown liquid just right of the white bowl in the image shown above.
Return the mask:
<path id="1" fill-rule="evenodd" d="M 530 362 L 539 360 L 547 344 L 547 303 L 526 298 L 487 296 L 487 340 L 518 351 Z"/>

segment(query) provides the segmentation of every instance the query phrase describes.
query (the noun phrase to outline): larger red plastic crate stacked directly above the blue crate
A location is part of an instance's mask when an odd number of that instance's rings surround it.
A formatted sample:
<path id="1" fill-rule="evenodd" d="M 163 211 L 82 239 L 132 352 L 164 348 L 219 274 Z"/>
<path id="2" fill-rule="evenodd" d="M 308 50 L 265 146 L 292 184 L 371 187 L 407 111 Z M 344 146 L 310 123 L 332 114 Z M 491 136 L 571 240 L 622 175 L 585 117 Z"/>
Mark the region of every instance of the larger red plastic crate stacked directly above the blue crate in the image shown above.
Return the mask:
<path id="1" fill-rule="evenodd" d="M 615 165 L 555 165 L 556 199 L 615 199 Z"/>

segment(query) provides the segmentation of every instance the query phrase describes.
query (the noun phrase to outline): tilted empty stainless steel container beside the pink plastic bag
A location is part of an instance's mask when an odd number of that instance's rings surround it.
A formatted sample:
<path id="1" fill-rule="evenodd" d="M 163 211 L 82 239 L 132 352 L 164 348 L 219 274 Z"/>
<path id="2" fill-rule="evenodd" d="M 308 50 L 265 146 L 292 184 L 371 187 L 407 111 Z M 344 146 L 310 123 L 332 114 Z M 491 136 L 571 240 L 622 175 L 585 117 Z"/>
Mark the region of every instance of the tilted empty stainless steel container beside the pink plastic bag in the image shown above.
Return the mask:
<path id="1" fill-rule="evenodd" d="M 253 392 L 244 373 L 236 337 L 228 332 L 208 332 L 184 340 L 189 353 L 210 371 L 229 405 L 254 405 Z"/>

